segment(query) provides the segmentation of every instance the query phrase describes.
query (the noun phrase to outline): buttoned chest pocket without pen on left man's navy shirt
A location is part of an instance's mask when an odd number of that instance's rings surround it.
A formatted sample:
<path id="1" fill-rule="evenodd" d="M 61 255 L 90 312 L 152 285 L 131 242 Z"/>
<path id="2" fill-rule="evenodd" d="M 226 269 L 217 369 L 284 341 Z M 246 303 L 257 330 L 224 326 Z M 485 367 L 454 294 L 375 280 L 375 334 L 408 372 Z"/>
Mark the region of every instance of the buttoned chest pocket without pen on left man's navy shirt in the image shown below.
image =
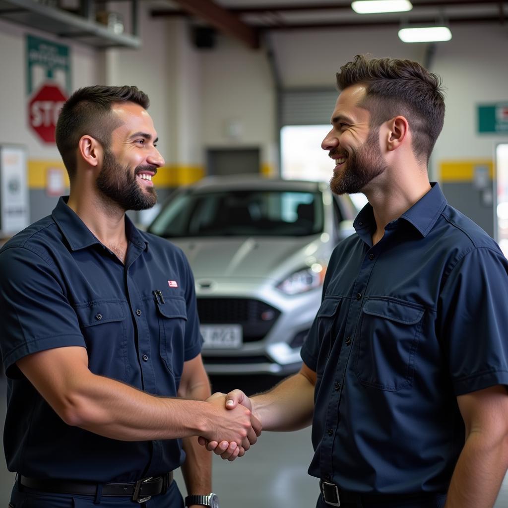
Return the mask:
<path id="1" fill-rule="evenodd" d="M 94 300 L 74 307 L 86 342 L 88 368 L 94 374 L 129 379 L 126 307 L 123 300 Z"/>

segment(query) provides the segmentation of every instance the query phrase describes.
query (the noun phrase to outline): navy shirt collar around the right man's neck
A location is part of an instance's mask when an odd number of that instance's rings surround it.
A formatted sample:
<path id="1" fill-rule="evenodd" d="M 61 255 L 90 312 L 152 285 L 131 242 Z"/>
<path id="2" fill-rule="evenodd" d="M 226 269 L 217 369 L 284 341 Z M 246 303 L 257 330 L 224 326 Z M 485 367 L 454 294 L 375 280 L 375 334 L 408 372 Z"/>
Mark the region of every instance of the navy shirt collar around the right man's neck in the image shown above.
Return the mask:
<path id="1" fill-rule="evenodd" d="M 429 192 L 400 216 L 401 219 L 416 228 L 423 237 L 428 235 L 440 213 L 447 205 L 447 200 L 441 192 L 439 184 L 431 182 L 430 186 Z M 394 221 L 394 223 L 396 222 L 397 220 Z M 360 236 L 370 235 L 375 229 L 374 213 L 370 203 L 367 203 L 361 209 L 353 223 L 353 227 Z"/>

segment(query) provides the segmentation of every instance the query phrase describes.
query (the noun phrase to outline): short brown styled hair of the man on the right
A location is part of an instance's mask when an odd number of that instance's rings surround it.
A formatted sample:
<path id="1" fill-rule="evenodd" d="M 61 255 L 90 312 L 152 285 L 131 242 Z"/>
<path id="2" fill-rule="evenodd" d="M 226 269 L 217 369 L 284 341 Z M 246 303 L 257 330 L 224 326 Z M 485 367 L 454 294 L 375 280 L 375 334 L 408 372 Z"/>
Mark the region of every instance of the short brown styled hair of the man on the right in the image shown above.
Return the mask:
<path id="1" fill-rule="evenodd" d="M 370 124 L 403 115 L 413 133 L 413 152 L 427 162 L 444 122 L 441 79 L 415 61 L 356 55 L 340 68 L 337 86 L 343 90 L 360 83 L 367 85 L 360 106 L 370 112 Z"/>

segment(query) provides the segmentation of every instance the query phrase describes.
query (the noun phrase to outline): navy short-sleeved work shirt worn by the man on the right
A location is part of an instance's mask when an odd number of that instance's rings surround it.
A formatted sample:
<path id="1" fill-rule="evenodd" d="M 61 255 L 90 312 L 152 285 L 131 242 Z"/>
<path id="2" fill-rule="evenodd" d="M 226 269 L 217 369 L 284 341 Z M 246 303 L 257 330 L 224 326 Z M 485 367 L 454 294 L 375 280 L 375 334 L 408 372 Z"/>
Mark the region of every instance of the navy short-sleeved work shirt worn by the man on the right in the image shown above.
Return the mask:
<path id="1" fill-rule="evenodd" d="M 508 262 L 438 184 L 375 245 L 369 204 L 354 226 L 302 348 L 317 373 L 309 474 L 445 493 L 464 445 L 456 397 L 508 384 Z"/>

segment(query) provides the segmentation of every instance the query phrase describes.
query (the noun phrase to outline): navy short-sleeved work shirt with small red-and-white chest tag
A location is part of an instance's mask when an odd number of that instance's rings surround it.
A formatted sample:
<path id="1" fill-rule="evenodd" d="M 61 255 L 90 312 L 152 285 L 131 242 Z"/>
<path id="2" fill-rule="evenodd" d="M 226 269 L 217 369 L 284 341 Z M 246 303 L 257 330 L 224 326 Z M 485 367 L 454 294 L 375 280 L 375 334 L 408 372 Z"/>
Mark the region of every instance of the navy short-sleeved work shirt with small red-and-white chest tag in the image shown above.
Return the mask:
<path id="1" fill-rule="evenodd" d="M 128 217 L 125 230 L 123 265 L 60 198 L 52 215 L 0 250 L 10 471 L 133 482 L 184 460 L 179 439 L 120 441 L 67 425 L 15 365 L 39 351 L 83 346 L 94 374 L 156 396 L 177 395 L 183 363 L 202 345 L 193 276 L 176 246 L 137 230 Z"/>

